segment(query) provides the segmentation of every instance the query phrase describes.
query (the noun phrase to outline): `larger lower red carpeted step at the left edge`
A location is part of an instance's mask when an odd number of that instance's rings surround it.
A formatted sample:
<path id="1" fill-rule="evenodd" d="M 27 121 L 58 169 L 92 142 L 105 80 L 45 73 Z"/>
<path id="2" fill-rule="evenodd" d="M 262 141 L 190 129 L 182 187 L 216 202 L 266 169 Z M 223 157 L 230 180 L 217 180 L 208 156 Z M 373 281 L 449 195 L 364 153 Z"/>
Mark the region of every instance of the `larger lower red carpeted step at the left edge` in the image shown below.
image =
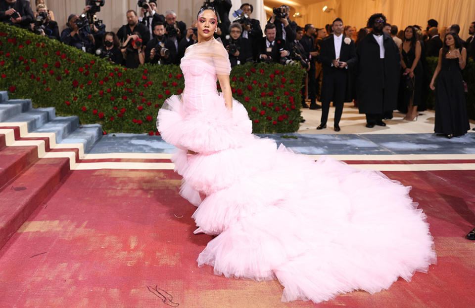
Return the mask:
<path id="1" fill-rule="evenodd" d="M 69 172 L 68 158 L 42 158 L 0 191 L 0 248 Z"/>

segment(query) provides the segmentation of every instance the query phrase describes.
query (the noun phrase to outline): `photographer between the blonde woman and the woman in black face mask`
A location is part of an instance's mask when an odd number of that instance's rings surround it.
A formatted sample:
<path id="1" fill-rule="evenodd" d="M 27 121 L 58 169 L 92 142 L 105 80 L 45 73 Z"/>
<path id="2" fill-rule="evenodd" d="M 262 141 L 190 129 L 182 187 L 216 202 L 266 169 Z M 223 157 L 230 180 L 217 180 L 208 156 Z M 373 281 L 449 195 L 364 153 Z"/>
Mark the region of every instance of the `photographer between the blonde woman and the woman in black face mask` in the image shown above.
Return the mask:
<path id="1" fill-rule="evenodd" d="M 86 20 L 80 19 L 78 15 L 71 14 L 68 17 L 68 28 L 61 32 L 61 41 L 66 45 L 82 49 L 85 52 L 93 53 L 95 40 L 85 27 L 88 26 Z"/>

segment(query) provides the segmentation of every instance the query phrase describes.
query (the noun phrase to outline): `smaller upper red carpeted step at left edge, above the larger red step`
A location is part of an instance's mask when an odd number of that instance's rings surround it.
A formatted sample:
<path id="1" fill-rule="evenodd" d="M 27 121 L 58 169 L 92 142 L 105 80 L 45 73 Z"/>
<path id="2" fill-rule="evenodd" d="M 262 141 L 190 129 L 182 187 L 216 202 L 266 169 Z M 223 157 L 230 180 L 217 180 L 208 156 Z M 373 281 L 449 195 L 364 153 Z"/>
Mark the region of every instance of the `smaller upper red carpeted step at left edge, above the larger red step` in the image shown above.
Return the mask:
<path id="1" fill-rule="evenodd" d="M 1 134 L 3 138 L 5 135 Z M 1 147 L 1 145 L 0 145 Z M 5 147 L 0 151 L 0 189 L 38 160 L 38 147 Z"/>

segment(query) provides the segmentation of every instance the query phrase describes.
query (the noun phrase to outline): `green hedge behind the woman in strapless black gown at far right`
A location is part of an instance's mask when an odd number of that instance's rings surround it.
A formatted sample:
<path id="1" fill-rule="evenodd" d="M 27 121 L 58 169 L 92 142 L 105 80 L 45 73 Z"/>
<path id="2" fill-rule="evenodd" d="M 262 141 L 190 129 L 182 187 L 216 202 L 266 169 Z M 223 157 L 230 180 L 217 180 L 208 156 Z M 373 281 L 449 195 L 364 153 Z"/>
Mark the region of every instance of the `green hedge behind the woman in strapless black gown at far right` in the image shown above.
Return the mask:
<path id="1" fill-rule="evenodd" d="M 437 67 L 438 58 L 437 57 L 428 57 L 427 58 L 427 109 L 435 109 L 435 91 L 432 91 L 428 88 L 428 82 L 432 79 L 435 68 Z M 469 89 L 466 93 L 466 102 L 467 102 L 467 112 L 471 119 L 475 119 L 475 61 L 469 59 L 467 66 L 462 71 L 465 82 L 467 82 L 467 87 Z"/>

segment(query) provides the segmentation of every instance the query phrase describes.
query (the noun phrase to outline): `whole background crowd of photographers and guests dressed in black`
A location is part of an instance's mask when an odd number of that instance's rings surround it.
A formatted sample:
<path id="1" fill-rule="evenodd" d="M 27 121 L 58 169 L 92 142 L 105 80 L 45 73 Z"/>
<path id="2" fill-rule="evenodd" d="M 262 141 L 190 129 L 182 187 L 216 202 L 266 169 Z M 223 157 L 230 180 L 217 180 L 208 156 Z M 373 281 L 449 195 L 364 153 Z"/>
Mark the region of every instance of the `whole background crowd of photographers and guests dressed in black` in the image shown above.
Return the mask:
<path id="1" fill-rule="evenodd" d="M 97 18 L 105 0 L 86 3 L 81 14 L 68 16 L 67 27 L 61 33 L 45 0 L 35 1 L 35 12 L 28 0 L 0 0 L 0 20 L 127 68 L 144 63 L 180 64 L 186 48 L 197 42 L 196 21 L 187 27 L 172 10 L 160 14 L 156 0 L 138 0 L 138 11 L 127 11 L 127 23 L 117 33 L 107 32 L 106 25 Z M 475 22 L 467 29 L 470 35 L 467 41 L 459 38 L 461 29 L 457 24 L 439 27 L 436 20 L 430 19 L 425 29 L 411 25 L 402 30 L 389 24 L 383 14 L 372 15 L 367 27 L 359 31 L 344 25 L 340 18 L 324 28 L 312 24 L 300 27 L 290 19 L 289 7 L 282 5 L 273 8 L 263 34 L 259 21 L 252 18 L 251 4 L 242 4 L 233 21 L 229 18 L 231 0 L 207 0 L 203 6 L 216 10 L 220 20 L 214 37 L 221 39 L 227 48 L 232 67 L 267 62 L 299 65 L 306 70 L 302 108 L 322 108 L 317 129 L 327 127 L 330 102 L 335 106 L 335 131 L 340 130 L 344 102 L 353 101 L 360 113 L 366 114 L 366 126 L 370 128 L 385 126 L 382 120 L 392 118 L 395 109 L 405 113 L 407 120 L 417 119 L 418 111 L 425 110 L 426 89 L 435 88 L 438 74 L 426 76 L 426 58 L 443 53 L 443 59 L 457 58 L 459 68 L 463 69 L 467 59 L 475 57 Z M 439 59 L 442 75 L 444 63 Z M 460 92 L 461 88 L 451 90 Z M 439 98 L 439 93 L 436 96 Z M 463 95 L 459 93 L 456 97 Z M 456 118 L 459 122 L 464 118 L 465 122 L 465 117 L 466 111 Z M 465 132 L 445 128 L 454 126 L 453 123 L 442 124 L 444 128 L 439 127 L 439 133 L 448 137 L 466 132 L 465 128 L 462 129 Z M 435 126 L 437 132 L 437 110 Z"/>

